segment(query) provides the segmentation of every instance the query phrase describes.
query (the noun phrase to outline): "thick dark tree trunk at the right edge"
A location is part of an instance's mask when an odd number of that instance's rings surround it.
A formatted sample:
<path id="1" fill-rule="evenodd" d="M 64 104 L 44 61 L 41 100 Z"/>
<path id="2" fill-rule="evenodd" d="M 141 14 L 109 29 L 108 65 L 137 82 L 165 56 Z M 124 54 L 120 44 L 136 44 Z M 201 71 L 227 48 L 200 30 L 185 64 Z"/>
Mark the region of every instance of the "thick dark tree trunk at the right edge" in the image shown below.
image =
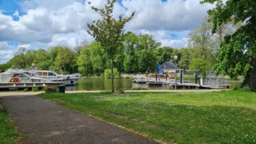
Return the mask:
<path id="1" fill-rule="evenodd" d="M 252 60 L 252 70 L 248 70 L 244 77 L 241 87 L 250 87 L 253 91 L 256 91 L 256 59 Z"/>

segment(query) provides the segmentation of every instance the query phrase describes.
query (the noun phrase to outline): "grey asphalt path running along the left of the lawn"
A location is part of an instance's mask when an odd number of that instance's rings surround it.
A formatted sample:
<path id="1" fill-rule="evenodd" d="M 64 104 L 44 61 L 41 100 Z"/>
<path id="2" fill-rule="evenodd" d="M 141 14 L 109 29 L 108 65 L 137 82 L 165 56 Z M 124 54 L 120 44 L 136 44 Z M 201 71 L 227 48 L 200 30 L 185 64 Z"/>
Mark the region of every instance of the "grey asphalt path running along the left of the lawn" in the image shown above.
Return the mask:
<path id="1" fill-rule="evenodd" d="M 18 132 L 18 143 L 154 143 L 113 126 L 36 96 L 5 96 Z"/>

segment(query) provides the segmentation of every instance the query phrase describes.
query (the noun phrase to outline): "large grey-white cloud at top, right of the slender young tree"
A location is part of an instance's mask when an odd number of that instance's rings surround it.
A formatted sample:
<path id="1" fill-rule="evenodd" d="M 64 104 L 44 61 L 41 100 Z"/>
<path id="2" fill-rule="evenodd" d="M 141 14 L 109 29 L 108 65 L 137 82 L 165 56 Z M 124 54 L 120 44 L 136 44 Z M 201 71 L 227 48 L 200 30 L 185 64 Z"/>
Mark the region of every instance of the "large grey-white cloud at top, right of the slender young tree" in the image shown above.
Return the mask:
<path id="1" fill-rule="evenodd" d="M 127 13 L 136 11 L 130 29 L 177 31 L 188 30 L 200 25 L 211 5 L 201 5 L 199 0 L 123 1 Z"/>

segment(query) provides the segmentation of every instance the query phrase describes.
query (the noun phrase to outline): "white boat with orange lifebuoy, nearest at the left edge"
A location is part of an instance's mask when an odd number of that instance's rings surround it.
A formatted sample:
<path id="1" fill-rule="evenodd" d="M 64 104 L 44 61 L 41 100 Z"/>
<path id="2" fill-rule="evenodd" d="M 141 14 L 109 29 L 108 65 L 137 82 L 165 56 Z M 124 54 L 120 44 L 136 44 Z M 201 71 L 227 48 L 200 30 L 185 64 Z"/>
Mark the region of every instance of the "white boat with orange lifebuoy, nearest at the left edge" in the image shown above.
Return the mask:
<path id="1" fill-rule="evenodd" d="M 1 88 L 27 88 L 27 87 L 46 87 L 55 89 L 61 83 L 48 81 L 46 78 L 39 78 L 26 74 L 23 70 L 9 69 L 0 74 Z"/>

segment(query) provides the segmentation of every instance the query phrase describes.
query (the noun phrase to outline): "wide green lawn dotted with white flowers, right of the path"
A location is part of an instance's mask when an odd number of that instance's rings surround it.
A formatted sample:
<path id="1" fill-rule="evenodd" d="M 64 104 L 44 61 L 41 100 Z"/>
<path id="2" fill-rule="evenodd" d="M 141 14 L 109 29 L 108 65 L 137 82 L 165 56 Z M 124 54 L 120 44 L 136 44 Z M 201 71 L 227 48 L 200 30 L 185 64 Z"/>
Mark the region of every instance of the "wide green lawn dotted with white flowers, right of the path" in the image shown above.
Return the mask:
<path id="1" fill-rule="evenodd" d="M 256 143 L 251 91 L 40 96 L 167 143 Z"/>

